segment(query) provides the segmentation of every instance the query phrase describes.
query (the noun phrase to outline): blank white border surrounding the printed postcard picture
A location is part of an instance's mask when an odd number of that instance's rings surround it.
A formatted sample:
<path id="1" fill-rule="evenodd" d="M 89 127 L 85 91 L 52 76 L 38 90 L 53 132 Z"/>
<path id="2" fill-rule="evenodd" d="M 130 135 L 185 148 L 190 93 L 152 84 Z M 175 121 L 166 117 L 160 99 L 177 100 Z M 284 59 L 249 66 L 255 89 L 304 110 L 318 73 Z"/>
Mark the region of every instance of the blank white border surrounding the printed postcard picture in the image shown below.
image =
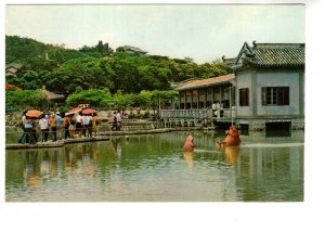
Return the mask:
<path id="1" fill-rule="evenodd" d="M 44 2 L 5 1 L 10 4 Z M 66 1 L 55 1 L 66 4 Z M 89 1 L 69 1 L 86 3 Z M 311 1 L 96 1 L 94 3 L 307 3 L 306 197 L 303 203 L 4 203 L 1 155 L 1 231 L 310 231 L 324 229 L 324 3 Z M 52 3 L 53 4 L 53 3 Z M 92 3 L 91 3 L 92 4 Z M 3 5 L 1 5 L 3 7 Z M 1 9 L 4 22 L 4 8 Z M 4 31 L 4 25 L 1 24 Z M 4 36 L 2 36 L 2 39 Z M 4 39 L 3 39 L 4 40 Z M 4 51 L 1 41 L 1 51 Z M 321 53 L 322 52 L 322 53 Z M 1 55 L 4 73 L 4 54 Z M 3 75 L 4 76 L 4 75 Z M 2 80 L 3 81 L 3 80 Z M 1 83 L 4 86 L 4 83 Z M 3 93 L 2 93 L 3 98 Z M 3 108 L 4 111 L 4 108 Z M 3 118 L 1 118 L 3 119 Z M 4 125 L 4 121 L 2 121 Z M 4 128 L 4 127 L 3 127 Z M 2 130 L 3 130 L 2 128 Z M 4 131 L 2 131 L 4 134 Z M 316 136 L 315 136 L 316 134 Z M 320 134 L 320 136 L 318 136 Z M 4 141 L 4 140 L 2 140 Z M 4 147 L 3 150 L 4 151 Z"/>

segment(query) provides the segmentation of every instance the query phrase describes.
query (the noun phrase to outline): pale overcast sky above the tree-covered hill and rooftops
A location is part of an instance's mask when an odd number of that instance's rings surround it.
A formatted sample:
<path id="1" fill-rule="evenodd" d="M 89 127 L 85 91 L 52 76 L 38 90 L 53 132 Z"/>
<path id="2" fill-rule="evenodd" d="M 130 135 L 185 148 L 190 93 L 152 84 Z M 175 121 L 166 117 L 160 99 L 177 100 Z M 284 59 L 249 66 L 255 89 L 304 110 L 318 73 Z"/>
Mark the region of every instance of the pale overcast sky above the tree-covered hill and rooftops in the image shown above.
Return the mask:
<path id="1" fill-rule="evenodd" d="M 243 43 L 304 42 L 303 4 L 6 5 L 5 35 L 78 49 L 99 40 L 116 49 L 190 56 L 237 55 Z"/>

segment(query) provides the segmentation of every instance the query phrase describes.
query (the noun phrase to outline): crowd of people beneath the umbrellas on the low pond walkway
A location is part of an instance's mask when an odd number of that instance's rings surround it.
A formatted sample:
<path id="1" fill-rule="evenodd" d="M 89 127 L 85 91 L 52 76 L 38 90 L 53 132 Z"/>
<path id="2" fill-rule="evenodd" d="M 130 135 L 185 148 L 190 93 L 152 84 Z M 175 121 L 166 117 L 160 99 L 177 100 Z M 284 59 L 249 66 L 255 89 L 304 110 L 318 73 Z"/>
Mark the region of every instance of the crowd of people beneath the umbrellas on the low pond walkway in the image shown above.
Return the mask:
<path id="1" fill-rule="evenodd" d="M 53 142 L 63 139 L 73 139 L 75 137 L 92 137 L 99 132 L 99 117 L 96 113 L 76 114 L 65 113 L 64 116 L 56 112 L 43 113 L 41 118 L 28 117 L 26 112 L 22 117 L 23 134 L 18 139 L 18 143 L 37 143 L 38 129 L 40 131 L 40 142 L 47 142 L 51 137 Z"/>

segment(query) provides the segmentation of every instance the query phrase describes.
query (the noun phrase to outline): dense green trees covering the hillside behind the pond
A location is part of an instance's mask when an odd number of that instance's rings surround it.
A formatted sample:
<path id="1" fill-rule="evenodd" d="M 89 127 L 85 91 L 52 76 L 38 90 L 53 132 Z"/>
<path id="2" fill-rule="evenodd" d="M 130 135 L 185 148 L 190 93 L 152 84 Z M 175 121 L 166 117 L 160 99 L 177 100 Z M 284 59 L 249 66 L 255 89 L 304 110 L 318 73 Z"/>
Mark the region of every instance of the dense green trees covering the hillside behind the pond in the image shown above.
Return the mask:
<path id="1" fill-rule="evenodd" d="M 46 59 L 46 54 L 49 59 Z M 5 36 L 5 62 L 23 63 L 17 77 L 10 76 L 8 83 L 26 90 L 46 86 L 50 91 L 66 95 L 91 89 L 108 89 L 115 95 L 118 91 L 123 94 L 138 94 L 143 90 L 168 91 L 170 82 L 210 78 L 227 73 L 220 61 L 196 64 L 191 57 L 143 56 L 126 52 L 123 48 L 114 52 L 108 43 L 102 41 L 77 51 L 65 49 L 64 44 L 44 44 L 17 36 Z M 156 105 L 148 103 L 147 99 L 134 100 L 132 95 L 128 98 L 118 99 L 120 106 L 139 105 L 140 102 Z M 105 101 L 103 99 L 99 104 L 105 104 Z"/>

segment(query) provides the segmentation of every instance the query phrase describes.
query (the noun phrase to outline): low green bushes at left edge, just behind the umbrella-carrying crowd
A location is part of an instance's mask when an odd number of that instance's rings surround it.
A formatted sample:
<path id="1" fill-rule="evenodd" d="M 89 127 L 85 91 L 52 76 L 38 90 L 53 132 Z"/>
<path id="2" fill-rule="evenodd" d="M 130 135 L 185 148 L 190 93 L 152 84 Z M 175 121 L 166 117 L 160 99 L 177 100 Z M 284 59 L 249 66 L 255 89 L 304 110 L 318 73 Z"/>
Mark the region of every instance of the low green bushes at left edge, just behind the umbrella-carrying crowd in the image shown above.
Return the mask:
<path id="1" fill-rule="evenodd" d="M 42 109 L 48 105 L 43 90 L 21 90 L 5 92 L 5 104 L 17 108 Z"/>

